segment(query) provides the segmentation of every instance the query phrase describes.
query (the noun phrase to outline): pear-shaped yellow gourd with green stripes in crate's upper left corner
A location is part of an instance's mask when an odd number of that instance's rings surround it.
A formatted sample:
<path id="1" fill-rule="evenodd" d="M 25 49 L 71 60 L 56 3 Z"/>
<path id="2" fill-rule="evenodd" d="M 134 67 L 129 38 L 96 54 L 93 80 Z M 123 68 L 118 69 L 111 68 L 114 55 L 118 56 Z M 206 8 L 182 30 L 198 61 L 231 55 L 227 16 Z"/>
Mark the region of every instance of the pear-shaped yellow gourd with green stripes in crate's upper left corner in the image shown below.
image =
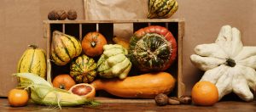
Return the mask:
<path id="1" fill-rule="evenodd" d="M 51 58 L 58 65 L 65 65 L 82 52 L 81 43 L 74 36 L 54 31 L 51 43 Z"/>

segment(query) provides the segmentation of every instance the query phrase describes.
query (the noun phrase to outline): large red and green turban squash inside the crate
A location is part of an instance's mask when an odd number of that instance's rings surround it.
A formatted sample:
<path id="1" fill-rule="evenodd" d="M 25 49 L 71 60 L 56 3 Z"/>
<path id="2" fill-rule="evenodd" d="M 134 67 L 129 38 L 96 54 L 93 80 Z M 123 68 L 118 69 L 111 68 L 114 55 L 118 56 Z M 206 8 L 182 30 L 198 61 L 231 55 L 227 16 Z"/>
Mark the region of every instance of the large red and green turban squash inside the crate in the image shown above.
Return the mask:
<path id="1" fill-rule="evenodd" d="M 141 71 L 170 67 L 177 56 L 177 42 L 165 27 L 150 25 L 131 36 L 129 58 Z"/>

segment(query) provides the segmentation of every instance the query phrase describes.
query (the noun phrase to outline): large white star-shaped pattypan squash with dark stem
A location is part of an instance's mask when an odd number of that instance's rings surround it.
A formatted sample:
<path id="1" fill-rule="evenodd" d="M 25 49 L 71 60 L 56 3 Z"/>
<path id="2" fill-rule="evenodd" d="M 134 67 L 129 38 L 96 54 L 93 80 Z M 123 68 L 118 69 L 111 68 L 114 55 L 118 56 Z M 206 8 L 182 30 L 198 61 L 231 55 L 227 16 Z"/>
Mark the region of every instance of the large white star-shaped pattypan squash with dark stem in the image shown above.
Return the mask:
<path id="1" fill-rule="evenodd" d="M 256 89 L 256 47 L 243 46 L 241 33 L 224 25 L 214 43 L 195 47 L 190 59 L 206 71 L 201 81 L 211 81 L 218 88 L 218 99 L 235 92 L 245 101 L 253 100 Z"/>

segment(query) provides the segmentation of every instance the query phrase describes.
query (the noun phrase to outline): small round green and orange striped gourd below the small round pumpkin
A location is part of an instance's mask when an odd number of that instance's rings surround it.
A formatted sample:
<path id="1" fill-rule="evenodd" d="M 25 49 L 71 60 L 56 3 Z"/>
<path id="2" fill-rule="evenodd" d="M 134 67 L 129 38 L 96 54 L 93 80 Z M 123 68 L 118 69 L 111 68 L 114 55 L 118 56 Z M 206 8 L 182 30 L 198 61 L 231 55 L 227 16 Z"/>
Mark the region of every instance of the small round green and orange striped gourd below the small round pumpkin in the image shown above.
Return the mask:
<path id="1" fill-rule="evenodd" d="M 70 65 L 70 76 L 77 83 L 93 81 L 96 77 L 96 62 L 84 54 L 79 56 Z"/>

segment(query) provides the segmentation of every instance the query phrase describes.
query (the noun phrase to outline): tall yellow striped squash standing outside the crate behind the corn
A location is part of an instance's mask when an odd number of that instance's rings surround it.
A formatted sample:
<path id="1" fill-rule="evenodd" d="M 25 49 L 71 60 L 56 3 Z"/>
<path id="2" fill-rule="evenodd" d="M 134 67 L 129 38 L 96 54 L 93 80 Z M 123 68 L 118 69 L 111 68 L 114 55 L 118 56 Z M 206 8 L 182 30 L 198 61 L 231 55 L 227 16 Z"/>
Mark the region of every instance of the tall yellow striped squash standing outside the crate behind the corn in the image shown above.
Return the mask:
<path id="1" fill-rule="evenodd" d="M 29 45 L 26 51 L 22 54 L 18 67 L 18 73 L 33 73 L 38 76 L 46 78 L 46 56 L 44 49 L 37 48 L 35 45 Z M 20 81 L 26 79 L 20 78 Z"/>

